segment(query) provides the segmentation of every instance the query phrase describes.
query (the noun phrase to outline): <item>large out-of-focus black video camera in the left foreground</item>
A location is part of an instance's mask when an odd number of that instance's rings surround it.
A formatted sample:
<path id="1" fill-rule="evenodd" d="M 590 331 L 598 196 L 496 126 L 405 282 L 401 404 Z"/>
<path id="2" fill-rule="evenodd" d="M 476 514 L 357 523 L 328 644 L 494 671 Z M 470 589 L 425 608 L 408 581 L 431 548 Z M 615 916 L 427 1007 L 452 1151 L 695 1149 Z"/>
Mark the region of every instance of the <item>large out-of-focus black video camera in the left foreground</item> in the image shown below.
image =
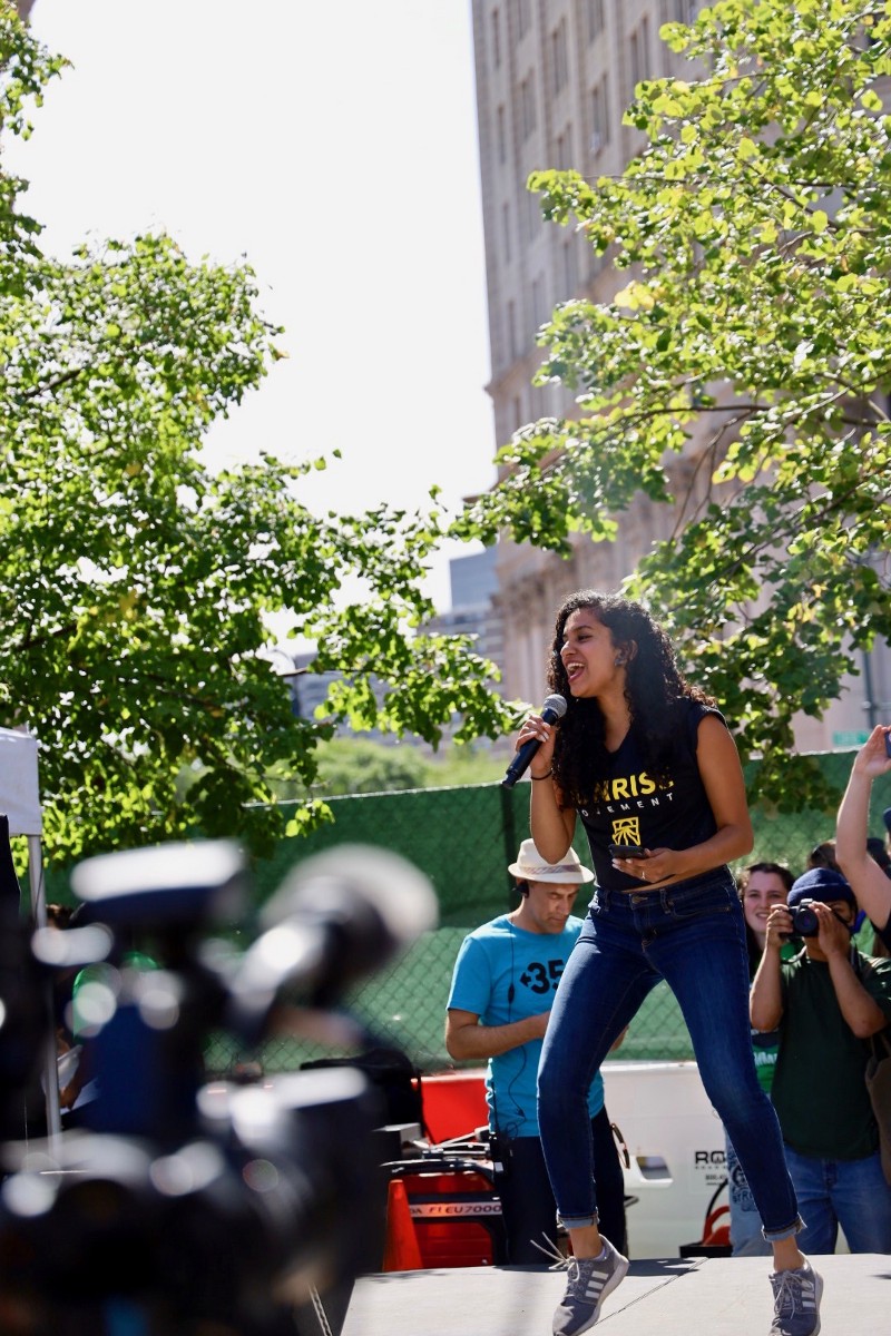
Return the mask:
<path id="1" fill-rule="evenodd" d="M 379 1096 L 350 1065 L 208 1083 L 207 1041 L 250 1050 L 307 1017 L 357 1039 L 331 1006 L 434 925 L 430 883 L 379 848 L 331 850 L 242 955 L 214 937 L 247 904 L 228 842 L 90 859 L 72 888 L 76 927 L 7 923 L 0 950 L 0 1133 L 52 1042 L 53 971 L 92 967 L 99 1090 L 83 1129 L 3 1146 L 0 1336 L 294 1336 L 299 1305 L 379 1269 Z M 156 967 L 132 965 L 134 942 Z"/>

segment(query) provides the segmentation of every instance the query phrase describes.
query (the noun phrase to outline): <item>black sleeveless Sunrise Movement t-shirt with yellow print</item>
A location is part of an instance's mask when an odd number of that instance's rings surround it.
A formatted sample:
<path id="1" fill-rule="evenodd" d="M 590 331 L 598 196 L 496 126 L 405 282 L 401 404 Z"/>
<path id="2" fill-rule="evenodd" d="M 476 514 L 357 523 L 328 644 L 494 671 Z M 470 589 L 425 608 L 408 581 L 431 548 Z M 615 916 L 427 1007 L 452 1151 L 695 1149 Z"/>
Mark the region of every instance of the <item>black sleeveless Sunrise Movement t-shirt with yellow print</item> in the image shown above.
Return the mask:
<path id="1" fill-rule="evenodd" d="M 675 745 L 664 779 L 647 774 L 640 736 L 632 723 L 597 782 L 592 802 L 580 808 L 597 884 L 609 890 L 640 890 L 636 876 L 612 866 L 609 844 L 643 844 L 645 848 L 692 848 L 711 839 L 717 824 L 705 795 L 696 762 L 700 721 L 724 716 L 711 705 L 685 697 L 675 707 Z"/>

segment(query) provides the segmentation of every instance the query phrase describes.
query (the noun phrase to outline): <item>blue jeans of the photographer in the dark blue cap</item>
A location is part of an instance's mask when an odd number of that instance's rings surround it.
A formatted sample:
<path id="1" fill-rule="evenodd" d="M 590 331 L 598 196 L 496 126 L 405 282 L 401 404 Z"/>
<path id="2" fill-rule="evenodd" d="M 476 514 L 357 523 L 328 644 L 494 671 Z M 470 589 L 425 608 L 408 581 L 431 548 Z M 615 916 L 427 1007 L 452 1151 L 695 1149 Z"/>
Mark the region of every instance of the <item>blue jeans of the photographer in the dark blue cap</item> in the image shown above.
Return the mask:
<path id="1" fill-rule="evenodd" d="M 803 1252 L 835 1252 L 840 1225 L 851 1252 L 891 1253 L 891 1188 L 878 1150 L 866 1160 L 818 1160 L 787 1145 L 785 1162 L 807 1218 Z"/>

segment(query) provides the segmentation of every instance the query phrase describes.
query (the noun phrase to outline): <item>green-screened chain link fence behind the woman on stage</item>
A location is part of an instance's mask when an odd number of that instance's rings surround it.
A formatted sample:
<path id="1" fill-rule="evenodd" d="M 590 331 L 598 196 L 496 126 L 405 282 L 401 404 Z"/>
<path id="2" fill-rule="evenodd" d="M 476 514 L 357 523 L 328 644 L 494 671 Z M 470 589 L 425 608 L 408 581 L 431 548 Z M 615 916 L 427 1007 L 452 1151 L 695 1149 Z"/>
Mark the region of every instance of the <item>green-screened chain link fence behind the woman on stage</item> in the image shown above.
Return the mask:
<path id="1" fill-rule="evenodd" d="M 816 758 L 839 799 L 854 755 L 826 752 Z M 756 790 L 756 767 L 747 778 Z M 295 863 L 342 843 L 386 847 L 426 872 L 439 902 L 439 926 L 345 999 L 345 1009 L 367 1026 L 381 1046 L 403 1050 L 423 1073 L 456 1066 L 443 1045 L 452 969 L 466 933 L 517 904 L 508 864 L 529 834 L 528 804 L 525 784 L 514 790 L 482 784 L 337 798 L 331 799 L 333 823 L 311 836 L 283 840 L 275 856 L 256 868 L 258 903 L 274 892 Z M 882 811 L 890 804 L 891 780 L 886 780 L 875 786 L 872 834 L 884 836 Z M 756 803 L 752 820 L 755 848 L 733 868 L 736 872 L 748 863 L 769 860 L 784 863 L 799 875 L 811 850 L 835 832 L 835 811 L 808 807 L 804 794 L 795 812 L 779 812 Z M 576 848 L 581 860 L 590 866 L 584 835 Z M 576 912 L 584 915 L 585 904 L 582 891 Z M 868 926 L 858 945 L 871 950 Z M 335 1054 L 330 1049 L 317 1043 L 289 1039 L 267 1043 L 260 1057 L 267 1071 L 282 1071 L 307 1059 L 331 1055 Z M 633 1021 L 616 1058 L 680 1061 L 692 1055 L 677 1003 L 667 985 L 660 983 Z M 231 1049 L 230 1041 L 219 1039 L 212 1046 L 210 1066 L 223 1074 L 243 1057 Z"/>

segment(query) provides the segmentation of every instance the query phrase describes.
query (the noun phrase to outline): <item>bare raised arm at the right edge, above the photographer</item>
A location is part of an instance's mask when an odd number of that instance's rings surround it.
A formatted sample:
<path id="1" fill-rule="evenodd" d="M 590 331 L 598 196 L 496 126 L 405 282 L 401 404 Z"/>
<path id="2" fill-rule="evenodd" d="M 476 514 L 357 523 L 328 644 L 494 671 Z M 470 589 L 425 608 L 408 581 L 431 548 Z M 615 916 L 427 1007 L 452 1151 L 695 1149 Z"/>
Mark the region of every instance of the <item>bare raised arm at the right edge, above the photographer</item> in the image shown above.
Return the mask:
<path id="1" fill-rule="evenodd" d="M 835 856 L 858 888 L 860 908 L 878 938 L 891 951 L 891 880 L 870 852 L 870 795 L 874 780 L 891 772 L 891 727 L 878 724 L 854 758 L 848 786 L 839 807 Z"/>

